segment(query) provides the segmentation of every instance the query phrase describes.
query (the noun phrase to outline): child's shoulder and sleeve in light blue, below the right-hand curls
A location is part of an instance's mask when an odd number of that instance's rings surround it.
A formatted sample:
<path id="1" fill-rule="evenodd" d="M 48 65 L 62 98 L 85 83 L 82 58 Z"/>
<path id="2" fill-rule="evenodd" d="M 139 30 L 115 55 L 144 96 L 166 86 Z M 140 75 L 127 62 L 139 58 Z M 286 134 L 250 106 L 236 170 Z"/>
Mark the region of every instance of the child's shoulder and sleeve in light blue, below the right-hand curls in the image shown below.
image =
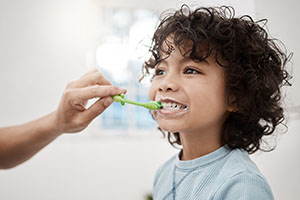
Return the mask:
<path id="1" fill-rule="evenodd" d="M 274 199 L 268 182 L 243 150 L 231 151 L 220 171 L 218 182 L 214 199 Z"/>

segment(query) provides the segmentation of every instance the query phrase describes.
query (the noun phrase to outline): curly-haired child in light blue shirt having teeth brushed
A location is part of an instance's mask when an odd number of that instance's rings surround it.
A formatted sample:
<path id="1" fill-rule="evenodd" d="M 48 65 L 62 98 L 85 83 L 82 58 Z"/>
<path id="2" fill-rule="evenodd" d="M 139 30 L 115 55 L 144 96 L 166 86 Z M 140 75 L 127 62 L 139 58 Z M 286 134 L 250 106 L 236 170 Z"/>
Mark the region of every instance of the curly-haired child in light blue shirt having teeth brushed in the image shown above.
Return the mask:
<path id="1" fill-rule="evenodd" d="M 152 115 L 169 142 L 182 145 L 158 169 L 154 199 L 274 199 L 248 153 L 283 121 L 289 57 L 258 22 L 225 6 L 183 5 L 162 19 L 150 51 L 149 96 L 163 105 Z"/>

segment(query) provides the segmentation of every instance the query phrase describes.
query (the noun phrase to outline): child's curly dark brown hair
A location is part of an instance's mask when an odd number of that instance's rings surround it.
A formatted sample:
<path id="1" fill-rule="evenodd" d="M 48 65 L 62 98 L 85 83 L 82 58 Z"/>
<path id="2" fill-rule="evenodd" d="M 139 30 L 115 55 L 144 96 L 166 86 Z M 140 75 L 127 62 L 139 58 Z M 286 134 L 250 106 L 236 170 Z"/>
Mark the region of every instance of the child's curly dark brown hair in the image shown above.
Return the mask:
<path id="1" fill-rule="evenodd" d="M 270 38 L 264 29 L 266 23 L 266 19 L 254 21 L 248 15 L 235 17 L 234 8 L 228 6 L 192 11 L 184 4 L 161 18 L 150 47 L 152 58 L 145 61 L 143 75 L 150 75 L 150 69 L 170 56 L 172 44 L 195 62 L 214 56 L 225 69 L 227 94 L 237 108 L 223 125 L 223 144 L 250 154 L 265 150 L 262 137 L 271 135 L 284 121 L 281 86 L 291 85 L 285 67 L 292 56 L 279 40 Z M 181 145 L 179 132 L 167 134 L 173 146 Z"/>

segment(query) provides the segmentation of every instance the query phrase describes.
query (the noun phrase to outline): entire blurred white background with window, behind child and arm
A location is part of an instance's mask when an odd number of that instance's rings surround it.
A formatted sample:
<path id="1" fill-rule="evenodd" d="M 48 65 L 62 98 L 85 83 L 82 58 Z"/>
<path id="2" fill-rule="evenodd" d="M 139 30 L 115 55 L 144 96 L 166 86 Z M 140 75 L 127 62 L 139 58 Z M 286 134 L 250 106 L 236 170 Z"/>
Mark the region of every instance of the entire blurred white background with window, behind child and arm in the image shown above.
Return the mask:
<path id="1" fill-rule="evenodd" d="M 97 67 L 127 97 L 148 100 L 139 83 L 159 14 L 190 6 L 232 5 L 237 15 L 269 19 L 271 35 L 294 52 L 285 89 L 288 131 L 271 153 L 251 157 L 278 200 L 300 199 L 300 63 L 296 0 L 0 0 L 0 126 L 56 109 L 66 84 Z M 146 109 L 113 104 L 83 132 L 62 135 L 26 163 L 0 171 L 3 200 L 145 199 L 156 169 L 178 150 Z"/>

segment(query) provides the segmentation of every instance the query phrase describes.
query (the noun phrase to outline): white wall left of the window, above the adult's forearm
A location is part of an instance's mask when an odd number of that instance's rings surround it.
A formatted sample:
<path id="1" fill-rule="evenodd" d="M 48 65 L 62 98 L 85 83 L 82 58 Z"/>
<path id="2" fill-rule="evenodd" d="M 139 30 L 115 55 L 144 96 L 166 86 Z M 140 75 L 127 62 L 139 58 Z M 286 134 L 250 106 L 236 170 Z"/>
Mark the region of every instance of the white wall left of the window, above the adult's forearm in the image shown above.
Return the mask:
<path id="1" fill-rule="evenodd" d="M 100 28 L 92 1 L 1 0 L 0 10 L 0 123 L 7 125 L 56 107 L 66 83 L 88 70 Z"/>

